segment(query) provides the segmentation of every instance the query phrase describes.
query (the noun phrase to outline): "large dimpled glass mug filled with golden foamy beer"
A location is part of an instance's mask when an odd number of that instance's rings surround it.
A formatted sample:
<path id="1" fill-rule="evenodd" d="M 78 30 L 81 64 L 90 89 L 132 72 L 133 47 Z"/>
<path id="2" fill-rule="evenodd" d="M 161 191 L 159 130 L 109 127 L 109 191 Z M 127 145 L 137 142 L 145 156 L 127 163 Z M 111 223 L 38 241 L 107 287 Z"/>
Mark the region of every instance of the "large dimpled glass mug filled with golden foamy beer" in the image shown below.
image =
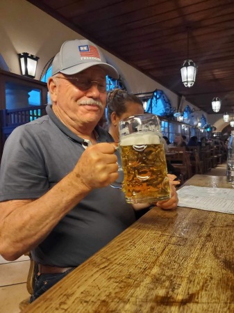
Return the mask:
<path id="1" fill-rule="evenodd" d="M 119 122 L 119 148 L 124 172 L 122 191 L 128 203 L 170 198 L 167 163 L 156 115 L 133 115 Z"/>

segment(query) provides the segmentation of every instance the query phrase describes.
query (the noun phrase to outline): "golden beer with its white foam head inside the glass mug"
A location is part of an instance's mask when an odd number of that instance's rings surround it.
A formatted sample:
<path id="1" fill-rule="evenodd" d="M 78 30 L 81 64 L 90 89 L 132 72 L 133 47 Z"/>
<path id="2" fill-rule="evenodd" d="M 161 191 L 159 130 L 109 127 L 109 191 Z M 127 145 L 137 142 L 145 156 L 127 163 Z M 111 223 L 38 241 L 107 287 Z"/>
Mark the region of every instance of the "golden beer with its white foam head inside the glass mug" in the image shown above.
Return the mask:
<path id="1" fill-rule="evenodd" d="M 164 145 L 153 132 L 123 136 L 121 147 L 124 170 L 123 191 L 129 203 L 170 198 Z"/>

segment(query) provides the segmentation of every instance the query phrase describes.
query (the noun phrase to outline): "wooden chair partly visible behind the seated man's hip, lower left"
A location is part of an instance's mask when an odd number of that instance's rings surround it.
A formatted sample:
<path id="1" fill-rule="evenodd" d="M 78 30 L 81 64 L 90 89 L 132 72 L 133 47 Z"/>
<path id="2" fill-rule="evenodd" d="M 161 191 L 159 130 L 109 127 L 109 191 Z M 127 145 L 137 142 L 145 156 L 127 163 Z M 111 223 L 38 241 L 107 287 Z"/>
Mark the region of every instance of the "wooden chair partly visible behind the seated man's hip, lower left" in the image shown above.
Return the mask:
<path id="1" fill-rule="evenodd" d="M 34 284 L 34 276 L 38 271 L 38 266 L 37 263 L 33 260 L 32 256 L 31 256 L 31 252 L 26 253 L 25 255 L 28 255 L 28 257 L 30 258 L 30 267 L 29 267 L 29 271 L 28 271 L 28 277 L 27 277 L 27 282 L 26 282 L 26 287 L 28 290 L 28 294 L 33 294 L 33 284 Z M 28 305 L 30 305 L 29 301 L 30 301 L 30 296 L 24 300 L 21 301 L 21 303 L 19 303 L 19 310 L 20 312 L 24 311 L 26 309 L 26 307 L 28 307 Z"/>

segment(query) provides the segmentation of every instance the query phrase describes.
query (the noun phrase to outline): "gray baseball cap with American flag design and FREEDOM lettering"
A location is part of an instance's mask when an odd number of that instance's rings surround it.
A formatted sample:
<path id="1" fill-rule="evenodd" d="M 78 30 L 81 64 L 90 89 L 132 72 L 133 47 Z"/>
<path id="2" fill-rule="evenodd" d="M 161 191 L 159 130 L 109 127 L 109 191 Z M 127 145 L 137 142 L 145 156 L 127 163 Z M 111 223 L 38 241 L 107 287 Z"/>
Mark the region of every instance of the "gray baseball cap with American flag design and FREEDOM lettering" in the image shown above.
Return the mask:
<path id="1" fill-rule="evenodd" d="M 76 74 L 94 65 L 102 67 L 110 77 L 119 78 L 115 67 L 106 63 L 106 58 L 96 45 L 86 39 L 69 40 L 62 44 L 53 59 L 52 76 L 58 72 L 67 75 Z"/>

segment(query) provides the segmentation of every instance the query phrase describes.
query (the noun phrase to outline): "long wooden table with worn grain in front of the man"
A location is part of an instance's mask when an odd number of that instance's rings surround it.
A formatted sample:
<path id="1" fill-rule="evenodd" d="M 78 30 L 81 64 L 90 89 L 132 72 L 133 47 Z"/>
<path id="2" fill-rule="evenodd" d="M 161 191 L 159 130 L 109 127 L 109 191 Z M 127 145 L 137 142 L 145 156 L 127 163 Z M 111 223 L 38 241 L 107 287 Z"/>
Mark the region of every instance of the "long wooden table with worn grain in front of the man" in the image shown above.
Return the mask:
<path id="1" fill-rule="evenodd" d="M 233 214 L 153 208 L 24 312 L 234 312 L 233 243 Z"/>

